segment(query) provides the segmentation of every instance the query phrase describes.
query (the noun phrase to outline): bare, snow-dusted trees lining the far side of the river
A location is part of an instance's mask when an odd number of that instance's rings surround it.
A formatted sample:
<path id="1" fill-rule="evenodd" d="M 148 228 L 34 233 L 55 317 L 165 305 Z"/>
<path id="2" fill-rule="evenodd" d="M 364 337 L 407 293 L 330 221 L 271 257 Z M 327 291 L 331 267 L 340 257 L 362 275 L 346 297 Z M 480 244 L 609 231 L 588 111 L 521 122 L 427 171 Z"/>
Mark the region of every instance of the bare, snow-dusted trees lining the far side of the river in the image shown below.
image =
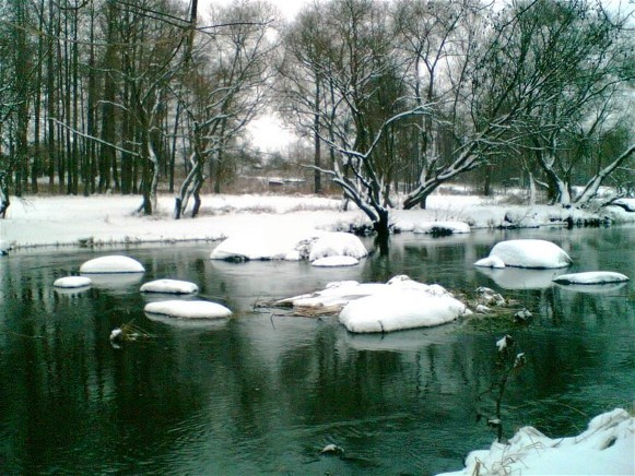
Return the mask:
<path id="1" fill-rule="evenodd" d="M 633 188 L 632 12 L 600 1 L 0 0 L 0 183 L 193 216 L 266 108 L 379 233 L 466 174 L 554 203 Z M 575 189 L 574 186 L 580 186 Z M 399 192 L 403 198 L 396 203 Z M 533 197 L 533 194 L 532 194 Z"/>

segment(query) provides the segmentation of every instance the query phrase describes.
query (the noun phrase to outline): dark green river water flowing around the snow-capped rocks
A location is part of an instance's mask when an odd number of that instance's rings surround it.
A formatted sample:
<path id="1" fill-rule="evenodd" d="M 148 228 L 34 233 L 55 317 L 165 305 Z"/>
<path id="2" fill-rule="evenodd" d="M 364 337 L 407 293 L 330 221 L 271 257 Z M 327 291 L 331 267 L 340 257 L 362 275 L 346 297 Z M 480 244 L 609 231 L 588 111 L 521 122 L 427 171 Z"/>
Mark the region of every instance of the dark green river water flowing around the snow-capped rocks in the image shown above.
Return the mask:
<path id="1" fill-rule="evenodd" d="M 510 436 L 534 425 L 581 431 L 589 417 L 635 397 L 633 284 L 603 293 L 549 285 L 553 272 L 486 274 L 472 263 L 501 239 L 545 238 L 575 261 L 567 272 L 635 276 L 635 228 L 405 234 L 360 266 L 209 261 L 211 246 L 45 249 L 0 258 L 0 473 L 419 474 L 461 467 L 494 433 L 495 341 L 511 334 L 527 365 L 503 400 Z M 368 241 L 368 247 L 372 242 Z M 57 277 L 96 255 L 126 252 L 146 273 L 60 294 Z M 340 279 L 408 274 L 470 291 L 486 285 L 527 307 L 427 330 L 352 335 L 336 318 L 254 312 L 257 300 Z M 207 326 L 149 320 L 142 282 L 188 279 L 235 317 Z M 113 348 L 126 322 L 149 342 Z M 344 449 L 321 455 L 328 443 Z"/>

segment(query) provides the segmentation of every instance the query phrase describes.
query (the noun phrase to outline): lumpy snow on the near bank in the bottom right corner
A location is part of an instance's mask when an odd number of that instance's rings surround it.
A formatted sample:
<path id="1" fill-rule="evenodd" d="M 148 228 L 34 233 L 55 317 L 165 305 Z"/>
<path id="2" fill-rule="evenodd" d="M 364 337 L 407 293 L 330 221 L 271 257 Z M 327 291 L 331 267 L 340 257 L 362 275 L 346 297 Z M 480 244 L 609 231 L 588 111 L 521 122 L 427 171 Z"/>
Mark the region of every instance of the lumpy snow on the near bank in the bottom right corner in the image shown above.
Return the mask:
<path id="1" fill-rule="evenodd" d="M 576 437 L 549 438 L 524 427 L 508 444 L 471 452 L 466 468 L 443 476 L 633 475 L 635 418 L 622 408 L 592 418 Z M 442 476 L 442 475 L 439 475 Z"/>

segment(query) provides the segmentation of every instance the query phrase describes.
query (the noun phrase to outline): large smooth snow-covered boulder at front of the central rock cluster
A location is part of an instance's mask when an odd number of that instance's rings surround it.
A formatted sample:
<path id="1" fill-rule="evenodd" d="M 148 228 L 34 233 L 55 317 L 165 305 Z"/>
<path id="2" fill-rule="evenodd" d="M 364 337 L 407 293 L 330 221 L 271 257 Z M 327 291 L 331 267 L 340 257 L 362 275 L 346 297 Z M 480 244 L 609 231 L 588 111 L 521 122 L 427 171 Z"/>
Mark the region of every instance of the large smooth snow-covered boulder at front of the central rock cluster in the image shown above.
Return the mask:
<path id="1" fill-rule="evenodd" d="M 467 313 L 467 306 L 449 295 L 395 287 L 349 302 L 340 322 L 350 332 L 391 332 L 445 324 Z"/>

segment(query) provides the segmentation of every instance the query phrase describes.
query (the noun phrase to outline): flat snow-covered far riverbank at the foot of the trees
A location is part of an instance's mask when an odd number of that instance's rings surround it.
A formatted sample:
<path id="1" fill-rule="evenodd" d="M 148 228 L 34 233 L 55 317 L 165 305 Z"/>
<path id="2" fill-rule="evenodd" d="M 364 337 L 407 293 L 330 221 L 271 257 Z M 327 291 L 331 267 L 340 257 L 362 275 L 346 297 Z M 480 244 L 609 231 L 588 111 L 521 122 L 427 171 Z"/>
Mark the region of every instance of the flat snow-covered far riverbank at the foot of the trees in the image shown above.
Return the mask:
<path id="1" fill-rule="evenodd" d="M 611 206 L 592 213 L 548 205 L 515 205 L 506 197 L 437 193 L 426 210 L 396 210 L 395 228 L 411 231 L 431 222 L 462 222 L 472 228 L 567 226 L 576 223 L 635 222 L 635 213 Z M 137 210 L 139 197 L 12 198 L 0 221 L 0 247 L 216 241 L 262 233 L 304 234 L 368 225 L 358 210 L 342 211 L 339 198 L 316 195 L 205 195 L 197 218 L 174 219 L 174 197 L 161 195 L 153 216 Z M 351 204 L 350 209 L 354 209 Z"/>

